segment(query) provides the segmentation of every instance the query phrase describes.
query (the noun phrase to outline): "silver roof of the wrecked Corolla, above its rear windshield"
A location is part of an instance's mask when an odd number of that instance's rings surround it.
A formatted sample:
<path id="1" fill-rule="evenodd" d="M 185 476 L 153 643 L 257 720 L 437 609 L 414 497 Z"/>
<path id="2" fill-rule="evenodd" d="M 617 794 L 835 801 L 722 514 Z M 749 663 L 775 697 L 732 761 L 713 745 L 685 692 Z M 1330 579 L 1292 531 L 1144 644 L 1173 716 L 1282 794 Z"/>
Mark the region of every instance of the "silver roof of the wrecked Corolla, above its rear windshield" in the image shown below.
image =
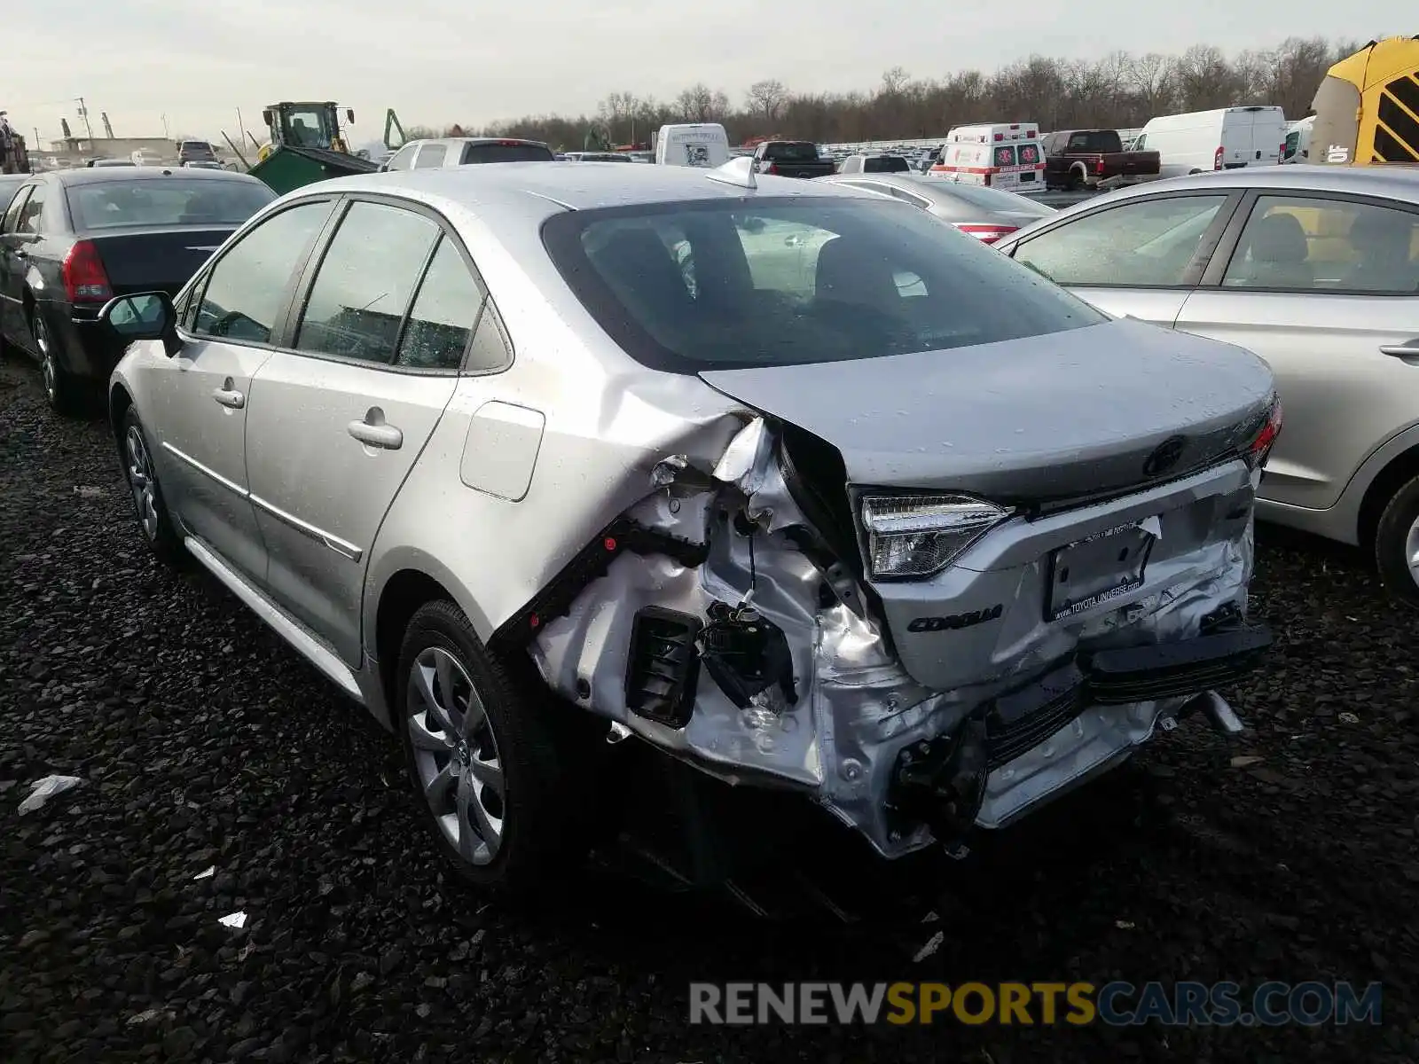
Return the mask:
<path id="1" fill-rule="evenodd" d="M 854 189 L 826 187 L 796 177 L 759 174 L 758 192 L 732 180 L 714 180 L 715 170 L 694 166 L 641 166 L 620 163 L 525 162 L 497 166 L 457 166 L 429 170 L 392 170 L 352 174 L 319 183 L 322 192 L 366 192 L 406 194 L 465 207 L 490 224 L 502 211 L 521 211 L 522 220 L 541 220 L 551 207 L 597 210 L 684 200 L 745 200 L 761 196 L 863 196 Z M 721 172 L 721 176 L 722 172 Z M 301 190 L 305 192 L 305 190 Z M 484 211 L 497 204 L 499 211 Z"/>

